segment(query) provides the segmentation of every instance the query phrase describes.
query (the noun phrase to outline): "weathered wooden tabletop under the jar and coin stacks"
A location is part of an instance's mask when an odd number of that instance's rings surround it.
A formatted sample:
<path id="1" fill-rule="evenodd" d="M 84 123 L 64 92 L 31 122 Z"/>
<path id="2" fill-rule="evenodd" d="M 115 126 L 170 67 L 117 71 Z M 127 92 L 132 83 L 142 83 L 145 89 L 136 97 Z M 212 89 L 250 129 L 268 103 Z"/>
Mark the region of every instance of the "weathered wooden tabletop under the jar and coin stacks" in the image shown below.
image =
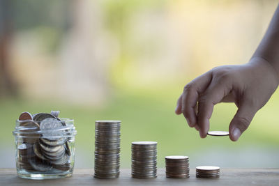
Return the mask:
<path id="1" fill-rule="evenodd" d="M 158 170 L 158 178 L 135 179 L 130 169 L 121 169 L 118 179 L 93 178 L 93 169 L 75 169 L 71 178 L 56 180 L 28 180 L 18 178 L 15 169 L 0 169 L 0 185 L 279 185 L 279 169 L 221 169 L 220 178 L 195 178 L 195 169 L 190 169 L 190 178 L 165 178 L 165 169 Z"/>

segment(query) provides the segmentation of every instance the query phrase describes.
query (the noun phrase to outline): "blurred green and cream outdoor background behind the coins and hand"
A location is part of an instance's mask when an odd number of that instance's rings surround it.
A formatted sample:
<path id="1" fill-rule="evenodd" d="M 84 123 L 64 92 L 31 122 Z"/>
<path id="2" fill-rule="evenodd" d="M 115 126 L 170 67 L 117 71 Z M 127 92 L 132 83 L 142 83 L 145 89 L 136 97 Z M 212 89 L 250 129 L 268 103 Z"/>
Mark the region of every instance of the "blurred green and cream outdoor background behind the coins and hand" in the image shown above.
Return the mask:
<path id="1" fill-rule="evenodd" d="M 15 167 L 15 120 L 60 110 L 77 127 L 76 167 L 93 168 L 94 122 L 121 120 L 121 166 L 132 141 L 158 141 L 190 166 L 279 166 L 279 93 L 239 141 L 200 139 L 176 100 L 217 65 L 246 63 L 277 1 L 3 1 L 0 3 L 0 167 Z M 4 65 L 3 65 L 4 64 Z M 234 104 L 218 104 L 211 130 L 228 130 Z"/>

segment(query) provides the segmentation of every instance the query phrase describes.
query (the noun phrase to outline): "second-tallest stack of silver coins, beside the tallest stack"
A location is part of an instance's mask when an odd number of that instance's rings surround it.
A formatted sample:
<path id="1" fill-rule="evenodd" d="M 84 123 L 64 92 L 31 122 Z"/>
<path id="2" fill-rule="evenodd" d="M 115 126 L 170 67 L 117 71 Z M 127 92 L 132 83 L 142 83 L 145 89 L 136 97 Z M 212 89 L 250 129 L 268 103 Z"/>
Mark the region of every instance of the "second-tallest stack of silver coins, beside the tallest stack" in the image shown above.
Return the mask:
<path id="1" fill-rule="evenodd" d="M 157 142 L 136 141 L 132 143 L 132 177 L 157 177 Z"/>

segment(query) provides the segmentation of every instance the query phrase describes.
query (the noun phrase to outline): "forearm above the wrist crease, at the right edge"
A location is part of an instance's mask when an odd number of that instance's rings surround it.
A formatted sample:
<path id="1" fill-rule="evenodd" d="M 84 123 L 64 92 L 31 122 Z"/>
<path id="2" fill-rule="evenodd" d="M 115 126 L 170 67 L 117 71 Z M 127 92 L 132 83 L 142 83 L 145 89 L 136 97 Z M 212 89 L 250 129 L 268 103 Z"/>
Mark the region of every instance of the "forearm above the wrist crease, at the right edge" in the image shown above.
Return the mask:
<path id="1" fill-rule="evenodd" d="M 270 63 L 279 76 L 279 6 L 252 59 L 257 57 Z"/>

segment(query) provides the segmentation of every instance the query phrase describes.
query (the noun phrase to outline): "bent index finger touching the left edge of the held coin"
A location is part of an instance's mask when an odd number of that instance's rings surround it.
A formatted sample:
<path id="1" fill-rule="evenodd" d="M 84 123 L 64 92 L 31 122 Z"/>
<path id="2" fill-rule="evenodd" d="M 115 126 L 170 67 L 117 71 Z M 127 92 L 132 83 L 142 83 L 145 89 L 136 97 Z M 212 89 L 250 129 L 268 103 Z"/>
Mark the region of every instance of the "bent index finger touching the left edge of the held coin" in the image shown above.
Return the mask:
<path id="1" fill-rule="evenodd" d="M 206 137 L 209 131 L 209 119 L 211 118 L 214 105 L 223 100 L 229 91 L 227 82 L 212 82 L 204 94 L 199 97 L 197 125 L 199 126 L 200 137 Z"/>

